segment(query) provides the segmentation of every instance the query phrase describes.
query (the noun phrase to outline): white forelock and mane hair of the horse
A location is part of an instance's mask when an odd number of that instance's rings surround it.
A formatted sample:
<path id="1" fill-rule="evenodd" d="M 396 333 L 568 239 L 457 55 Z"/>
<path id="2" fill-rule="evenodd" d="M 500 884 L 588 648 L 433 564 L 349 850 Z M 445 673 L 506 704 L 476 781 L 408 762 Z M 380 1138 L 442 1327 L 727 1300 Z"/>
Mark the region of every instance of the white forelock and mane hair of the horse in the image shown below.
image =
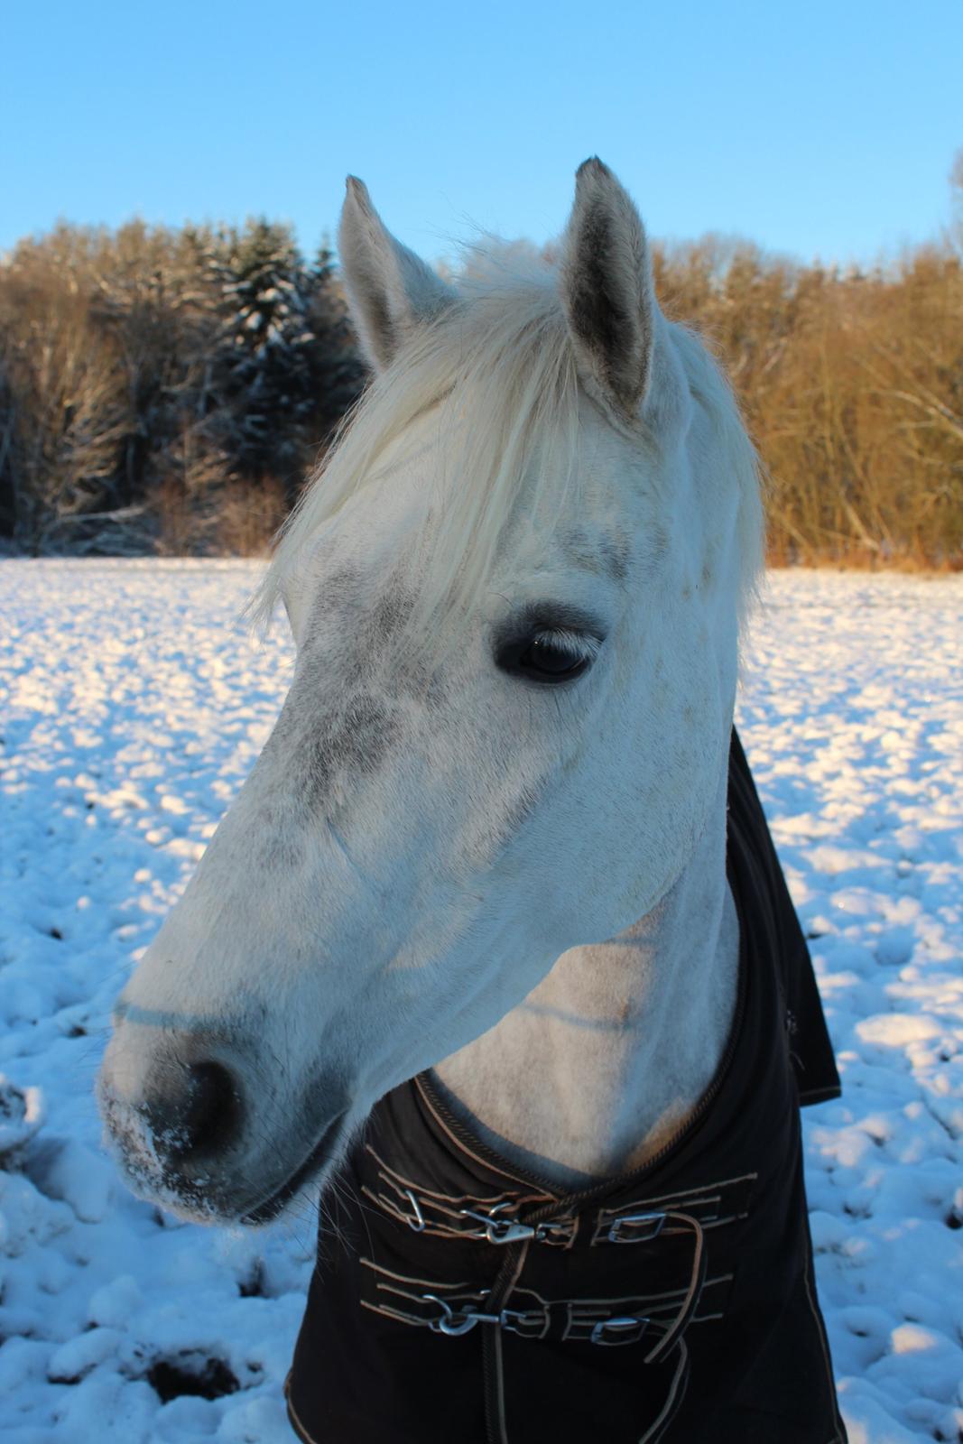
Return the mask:
<path id="1" fill-rule="evenodd" d="M 374 377 L 345 417 L 334 446 L 279 533 L 271 565 L 253 599 L 253 618 L 267 625 L 284 582 L 319 527 L 380 475 L 387 448 L 416 417 L 437 410 L 448 445 L 448 475 L 435 477 L 430 498 L 432 556 L 409 621 L 410 640 L 437 637 L 439 617 L 462 612 L 485 585 L 523 478 L 531 504 L 557 503 L 572 475 L 582 390 L 575 348 L 556 292 L 556 269 L 495 243 L 472 257 L 456 283 L 459 303 L 422 326 Z M 762 566 L 759 472 L 729 384 L 702 341 L 664 323 L 702 409 L 715 455 L 706 464 L 739 490 L 739 615 Z M 660 438 L 638 429 L 642 446 Z M 549 492 L 549 497 L 546 497 Z"/>

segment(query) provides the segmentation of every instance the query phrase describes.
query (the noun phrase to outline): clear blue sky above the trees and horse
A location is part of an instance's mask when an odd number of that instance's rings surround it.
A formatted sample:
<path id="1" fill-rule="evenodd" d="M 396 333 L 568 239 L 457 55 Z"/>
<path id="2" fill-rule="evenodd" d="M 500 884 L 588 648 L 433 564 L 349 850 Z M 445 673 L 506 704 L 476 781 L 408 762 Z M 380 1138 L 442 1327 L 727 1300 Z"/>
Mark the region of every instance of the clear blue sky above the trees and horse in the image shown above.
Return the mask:
<path id="1" fill-rule="evenodd" d="M 348 170 L 430 258 L 543 241 L 598 153 L 654 235 L 868 261 L 933 237 L 960 0 L 6 0 L 0 248 L 58 217 L 334 231 Z"/>

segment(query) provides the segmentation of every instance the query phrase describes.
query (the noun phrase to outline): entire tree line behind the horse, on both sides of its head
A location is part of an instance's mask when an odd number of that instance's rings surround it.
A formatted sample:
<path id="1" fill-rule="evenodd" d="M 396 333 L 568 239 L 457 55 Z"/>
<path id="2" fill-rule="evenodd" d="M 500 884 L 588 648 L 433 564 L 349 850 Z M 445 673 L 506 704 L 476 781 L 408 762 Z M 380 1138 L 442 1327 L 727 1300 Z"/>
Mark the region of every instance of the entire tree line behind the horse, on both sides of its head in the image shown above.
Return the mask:
<path id="1" fill-rule="evenodd" d="M 875 269 L 712 237 L 654 266 L 732 377 L 772 562 L 962 565 L 963 215 Z M 261 550 L 364 381 L 331 253 L 287 227 L 59 225 L 0 261 L 0 537 Z"/>

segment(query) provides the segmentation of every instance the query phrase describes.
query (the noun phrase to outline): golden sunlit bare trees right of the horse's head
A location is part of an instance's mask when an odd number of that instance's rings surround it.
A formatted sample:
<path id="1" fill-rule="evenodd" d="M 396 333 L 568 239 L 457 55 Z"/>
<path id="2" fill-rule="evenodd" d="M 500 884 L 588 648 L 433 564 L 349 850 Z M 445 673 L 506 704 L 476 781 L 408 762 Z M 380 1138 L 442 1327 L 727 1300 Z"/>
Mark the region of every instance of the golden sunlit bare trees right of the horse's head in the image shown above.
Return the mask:
<path id="1" fill-rule="evenodd" d="M 712 240 L 657 254 L 759 451 L 772 563 L 963 565 L 962 260 L 949 241 L 845 271 Z"/>

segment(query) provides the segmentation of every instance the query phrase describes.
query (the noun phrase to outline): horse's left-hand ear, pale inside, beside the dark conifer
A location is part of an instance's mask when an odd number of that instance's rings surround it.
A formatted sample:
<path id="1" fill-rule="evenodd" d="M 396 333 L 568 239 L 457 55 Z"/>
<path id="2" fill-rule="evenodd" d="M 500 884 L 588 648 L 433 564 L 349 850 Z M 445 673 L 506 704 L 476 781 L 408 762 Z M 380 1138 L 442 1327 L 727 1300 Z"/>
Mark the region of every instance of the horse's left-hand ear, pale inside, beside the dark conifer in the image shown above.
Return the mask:
<path id="1" fill-rule="evenodd" d="M 371 365 L 381 371 L 420 322 L 452 305 L 455 292 L 385 230 L 355 176 L 348 176 L 338 251 L 351 319 Z"/>

